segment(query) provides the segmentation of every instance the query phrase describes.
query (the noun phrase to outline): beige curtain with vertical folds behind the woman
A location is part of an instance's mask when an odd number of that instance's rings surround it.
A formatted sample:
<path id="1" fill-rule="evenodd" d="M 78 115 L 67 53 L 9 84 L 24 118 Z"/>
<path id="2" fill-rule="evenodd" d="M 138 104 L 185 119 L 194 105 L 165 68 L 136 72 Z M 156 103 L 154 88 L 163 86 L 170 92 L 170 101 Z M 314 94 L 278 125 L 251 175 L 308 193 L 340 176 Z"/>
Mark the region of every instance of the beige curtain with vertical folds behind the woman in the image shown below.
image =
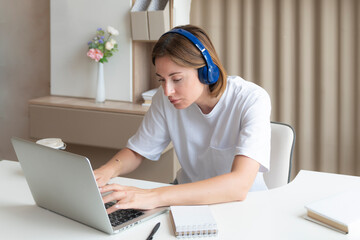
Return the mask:
<path id="1" fill-rule="evenodd" d="M 360 175 L 360 1 L 193 0 L 229 74 L 264 87 L 301 169 Z M 198 9 L 198 11 L 195 11 Z"/>

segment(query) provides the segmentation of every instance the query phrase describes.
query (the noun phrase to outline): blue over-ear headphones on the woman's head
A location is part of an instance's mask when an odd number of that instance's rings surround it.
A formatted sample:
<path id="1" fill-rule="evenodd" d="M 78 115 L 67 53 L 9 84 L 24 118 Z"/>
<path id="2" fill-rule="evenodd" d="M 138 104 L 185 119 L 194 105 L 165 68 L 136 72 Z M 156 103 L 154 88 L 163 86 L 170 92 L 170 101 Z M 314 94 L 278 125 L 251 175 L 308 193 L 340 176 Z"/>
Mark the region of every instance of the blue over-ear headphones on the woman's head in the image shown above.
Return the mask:
<path id="1" fill-rule="evenodd" d="M 201 41 L 189 31 L 180 28 L 172 29 L 165 34 L 167 33 L 177 33 L 186 37 L 200 50 L 205 59 L 206 65 L 198 69 L 199 80 L 204 84 L 216 83 L 220 76 L 219 68 L 214 64 L 209 52 L 206 50 Z"/>

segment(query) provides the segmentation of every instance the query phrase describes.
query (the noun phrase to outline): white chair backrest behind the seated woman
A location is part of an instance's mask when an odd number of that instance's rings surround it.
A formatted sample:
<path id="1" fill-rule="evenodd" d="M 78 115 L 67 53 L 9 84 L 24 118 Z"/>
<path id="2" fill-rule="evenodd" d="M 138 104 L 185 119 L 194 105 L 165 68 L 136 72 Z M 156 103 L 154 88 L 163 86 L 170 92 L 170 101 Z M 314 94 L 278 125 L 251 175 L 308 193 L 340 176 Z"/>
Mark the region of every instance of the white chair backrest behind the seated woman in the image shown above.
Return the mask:
<path id="1" fill-rule="evenodd" d="M 271 122 L 270 171 L 264 173 L 269 189 L 289 183 L 294 146 L 295 130 L 288 124 Z"/>

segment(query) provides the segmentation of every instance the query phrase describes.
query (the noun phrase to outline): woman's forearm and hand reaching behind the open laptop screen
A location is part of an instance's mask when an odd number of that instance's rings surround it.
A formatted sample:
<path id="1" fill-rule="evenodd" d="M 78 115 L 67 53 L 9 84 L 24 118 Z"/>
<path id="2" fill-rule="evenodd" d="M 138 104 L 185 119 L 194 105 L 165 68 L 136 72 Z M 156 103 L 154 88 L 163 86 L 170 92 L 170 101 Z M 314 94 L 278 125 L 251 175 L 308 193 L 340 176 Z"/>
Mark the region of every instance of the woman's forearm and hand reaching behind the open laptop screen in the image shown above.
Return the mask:
<path id="1" fill-rule="evenodd" d="M 94 171 L 99 187 L 104 186 L 111 178 L 134 171 L 142 162 L 143 157 L 124 148 L 112 157 L 105 165 Z"/>

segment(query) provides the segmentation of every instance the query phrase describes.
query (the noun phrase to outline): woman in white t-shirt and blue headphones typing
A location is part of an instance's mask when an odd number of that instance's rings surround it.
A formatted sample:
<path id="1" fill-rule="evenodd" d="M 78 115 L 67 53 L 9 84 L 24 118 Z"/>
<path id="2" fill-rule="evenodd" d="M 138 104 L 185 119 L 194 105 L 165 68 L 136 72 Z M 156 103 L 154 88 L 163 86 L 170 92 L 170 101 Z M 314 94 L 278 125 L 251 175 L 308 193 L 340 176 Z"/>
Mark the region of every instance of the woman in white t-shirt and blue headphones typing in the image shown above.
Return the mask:
<path id="1" fill-rule="evenodd" d="M 270 98 L 261 87 L 227 76 L 200 28 L 186 25 L 165 33 L 152 60 L 161 87 L 144 120 L 108 163 L 96 169 L 104 202 L 117 209 L 241 201 L 266 189 L 270 164 Z M 139 189 L 110 178 L 158 160 L 172 141 L 182 169 L 168 187 Z"/>

